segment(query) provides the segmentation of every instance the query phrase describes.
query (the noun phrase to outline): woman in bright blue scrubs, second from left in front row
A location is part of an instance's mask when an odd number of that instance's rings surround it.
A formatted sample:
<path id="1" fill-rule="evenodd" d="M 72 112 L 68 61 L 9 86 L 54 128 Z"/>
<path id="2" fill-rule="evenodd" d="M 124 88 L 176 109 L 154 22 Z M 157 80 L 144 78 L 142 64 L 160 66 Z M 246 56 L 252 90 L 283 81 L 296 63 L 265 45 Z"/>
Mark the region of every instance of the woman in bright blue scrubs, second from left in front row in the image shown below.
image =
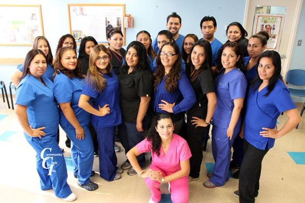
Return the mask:
<path id="1" fill-rule="evenodd" d="M 90 181 L 94 150 L 88 128 L 90 114 L 78 107 L 84 76 L 76 51 L 71 47 L 60 48 L 56 53 L 54 68 L 53 94 L 60 108 L 59 124 L 72 141 L 73 175 L 78 178 L 80 187 L 93 191 L 99 186 Z"/>

